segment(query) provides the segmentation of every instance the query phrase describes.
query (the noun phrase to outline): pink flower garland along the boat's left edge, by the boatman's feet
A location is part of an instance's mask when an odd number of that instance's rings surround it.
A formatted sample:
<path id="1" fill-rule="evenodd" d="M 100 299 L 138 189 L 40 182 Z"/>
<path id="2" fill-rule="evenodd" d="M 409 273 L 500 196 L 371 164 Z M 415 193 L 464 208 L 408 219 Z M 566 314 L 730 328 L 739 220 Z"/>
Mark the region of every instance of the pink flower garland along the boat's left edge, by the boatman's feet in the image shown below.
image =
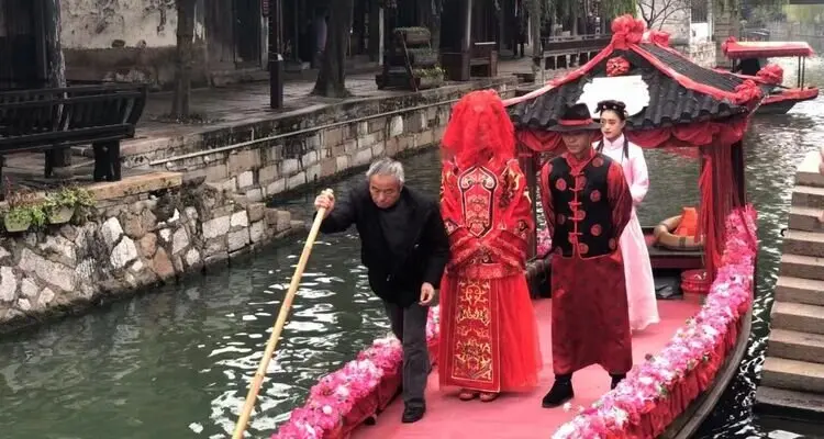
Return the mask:
<path id="1" fill-rule="evenodd" d="M 438 307 L 430 308 L 426 340 L 439 337 Z M 403 360 L 401 342 L 388 335 L 379 338 L 357 359 L 323 376 L 310 391 L 303 407 L 292 410 L 271 439 L 321 439 L 341 428 L 344 417 L 365 398 L 371 397 L 385 375 L 400 371 Z"/>

